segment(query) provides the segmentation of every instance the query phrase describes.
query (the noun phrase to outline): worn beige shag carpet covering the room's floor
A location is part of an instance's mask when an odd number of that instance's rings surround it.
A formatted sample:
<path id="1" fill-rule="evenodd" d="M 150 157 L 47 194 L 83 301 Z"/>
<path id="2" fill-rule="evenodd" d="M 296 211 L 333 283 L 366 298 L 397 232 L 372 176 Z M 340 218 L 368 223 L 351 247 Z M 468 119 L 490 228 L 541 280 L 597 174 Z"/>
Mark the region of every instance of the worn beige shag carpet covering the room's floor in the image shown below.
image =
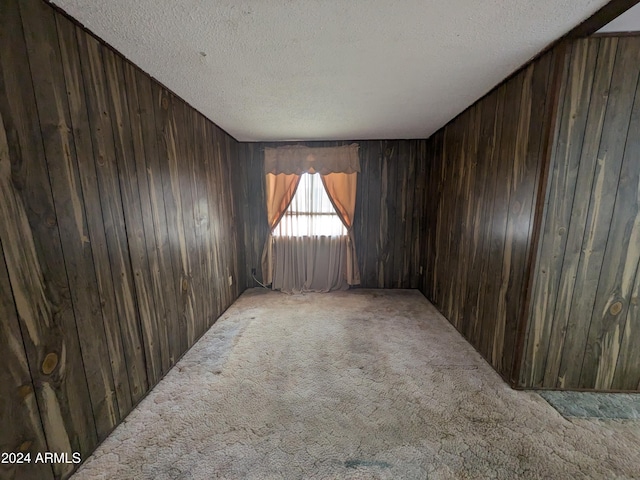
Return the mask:
<path id="1" fill-rule="evenodd" d="M 510 389 L 418 291 L 254 289 L 73 478 L 640 478 L 640 420 Z"/>

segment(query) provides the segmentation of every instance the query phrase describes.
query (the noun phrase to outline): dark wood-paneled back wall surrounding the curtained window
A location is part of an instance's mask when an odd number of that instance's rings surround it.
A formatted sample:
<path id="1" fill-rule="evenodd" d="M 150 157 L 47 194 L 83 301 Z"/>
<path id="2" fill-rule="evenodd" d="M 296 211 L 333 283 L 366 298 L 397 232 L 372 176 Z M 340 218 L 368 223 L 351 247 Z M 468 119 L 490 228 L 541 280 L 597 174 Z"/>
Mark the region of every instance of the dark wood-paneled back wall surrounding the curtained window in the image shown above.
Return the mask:
<path id="1" fill-rule="evenodd" d="M 354 142 L 301 142 L 333 146 Z M 426 140 L 357 141 L 360 167 L 354 220 L 356 253 L 363 288 L 418 288 L 420 245 L 424 231 Z M 260 268 L 269 231 L 264 193 L 264 147 L 277 143 L 240 144 L 246 160 L 246 191 L 241 205 L 247 265 L 247 287 L 257 284 L 251 267 Z"/>

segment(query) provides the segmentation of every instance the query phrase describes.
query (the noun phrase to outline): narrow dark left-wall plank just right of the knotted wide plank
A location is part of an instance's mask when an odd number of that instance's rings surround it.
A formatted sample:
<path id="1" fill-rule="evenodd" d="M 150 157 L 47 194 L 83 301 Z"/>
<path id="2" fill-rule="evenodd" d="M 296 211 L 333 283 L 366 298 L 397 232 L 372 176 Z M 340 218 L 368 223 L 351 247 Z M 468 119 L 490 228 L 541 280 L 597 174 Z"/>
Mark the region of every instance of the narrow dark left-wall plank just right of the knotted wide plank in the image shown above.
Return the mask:
<path id="1" fill-rule="evenodd" d="M 99 439 L 120 421 L 53 10 L 21 4 L 44 153 Z"/>

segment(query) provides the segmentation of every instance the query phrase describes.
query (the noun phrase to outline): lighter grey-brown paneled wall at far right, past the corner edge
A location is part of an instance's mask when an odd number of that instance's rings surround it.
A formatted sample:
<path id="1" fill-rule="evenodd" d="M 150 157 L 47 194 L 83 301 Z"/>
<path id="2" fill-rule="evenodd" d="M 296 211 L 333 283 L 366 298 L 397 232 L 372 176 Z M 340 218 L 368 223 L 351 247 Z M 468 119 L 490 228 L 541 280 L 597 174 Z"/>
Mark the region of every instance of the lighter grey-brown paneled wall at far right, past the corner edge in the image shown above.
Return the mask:
<path id="1" fill-rule="evenodd" d="M 571 45 L 520 384 L 640 390 L 640 37 Z"/>

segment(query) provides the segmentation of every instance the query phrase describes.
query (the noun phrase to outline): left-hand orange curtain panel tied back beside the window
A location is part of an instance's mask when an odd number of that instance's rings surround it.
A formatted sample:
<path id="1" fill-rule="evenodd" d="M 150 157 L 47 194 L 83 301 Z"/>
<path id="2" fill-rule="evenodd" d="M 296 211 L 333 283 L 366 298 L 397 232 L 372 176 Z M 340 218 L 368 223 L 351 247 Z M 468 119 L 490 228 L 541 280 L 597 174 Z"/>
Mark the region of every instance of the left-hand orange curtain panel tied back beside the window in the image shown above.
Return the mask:
<path id="1" fill-rule="evenodd" d="M 262 250 L 262 275 L 266 285 L 269 285 L 273 281 L 273 235 L 271 232 L 284 215 L 284 212 L 287 211 L 299 183 L 300 175 L 284 173 L 277 175 L 273 173 L 266 174 L 269 234 L 267 235 L 267 241 Z"/>

